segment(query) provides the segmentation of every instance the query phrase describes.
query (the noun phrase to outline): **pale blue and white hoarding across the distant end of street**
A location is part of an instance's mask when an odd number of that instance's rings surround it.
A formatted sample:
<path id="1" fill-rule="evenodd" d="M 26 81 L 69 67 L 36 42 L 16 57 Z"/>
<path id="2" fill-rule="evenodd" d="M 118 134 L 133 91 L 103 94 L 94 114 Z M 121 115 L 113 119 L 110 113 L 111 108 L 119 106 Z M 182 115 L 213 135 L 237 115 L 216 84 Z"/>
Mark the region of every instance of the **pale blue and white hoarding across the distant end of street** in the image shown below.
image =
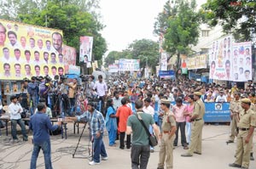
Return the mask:
<path id="1" fill-rule="evenodd" d="M 138 71 L 140 70 L 139 59 L 119 59 L 120 71 Z"/>

